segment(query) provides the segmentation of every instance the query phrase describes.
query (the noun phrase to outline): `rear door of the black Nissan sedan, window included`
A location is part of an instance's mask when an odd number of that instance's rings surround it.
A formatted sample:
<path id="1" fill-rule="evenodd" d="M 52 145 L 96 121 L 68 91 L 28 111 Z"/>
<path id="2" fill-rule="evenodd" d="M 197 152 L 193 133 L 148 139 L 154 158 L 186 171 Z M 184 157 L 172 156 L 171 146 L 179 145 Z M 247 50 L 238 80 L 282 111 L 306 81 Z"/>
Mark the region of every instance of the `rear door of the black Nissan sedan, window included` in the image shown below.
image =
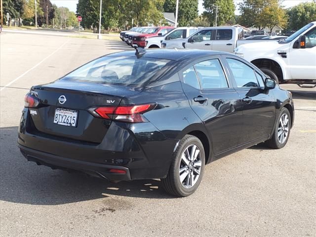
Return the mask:
<path id="1" fill-rule="evenodd" d="M 240 144 L 242 111 L 220 57 L 197 61 L 180 73 L 192 109 L 205 124 L 214 154 Z"/>

